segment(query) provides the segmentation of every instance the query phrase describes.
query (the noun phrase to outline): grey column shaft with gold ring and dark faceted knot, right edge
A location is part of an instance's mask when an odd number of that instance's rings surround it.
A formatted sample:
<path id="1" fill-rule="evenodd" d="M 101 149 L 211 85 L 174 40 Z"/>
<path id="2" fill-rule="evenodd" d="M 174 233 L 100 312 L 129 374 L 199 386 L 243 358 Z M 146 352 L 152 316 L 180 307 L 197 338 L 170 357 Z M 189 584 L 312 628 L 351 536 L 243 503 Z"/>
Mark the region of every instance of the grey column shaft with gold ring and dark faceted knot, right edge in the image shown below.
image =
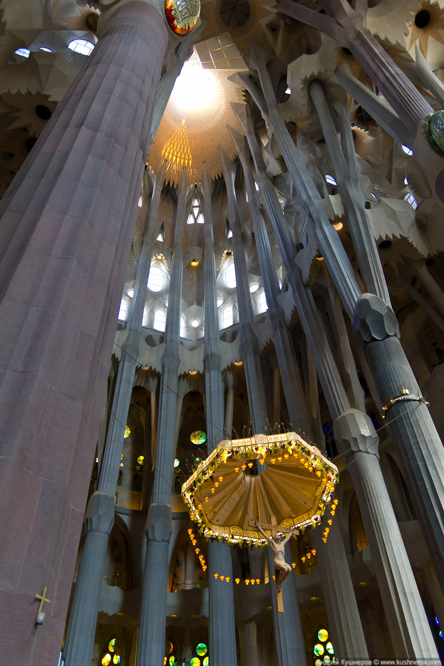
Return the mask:
<path id="1" fill-rule="evenodd" d="M 444 449 L 427 406 L 414 398 L 421 391 L 399 342 L 395 314 L 377 296 L 363 294 L 353 328 L 365 348 L 379 398 L 387 406 L 389 432 L 433 564 L 436 571 L 444 571 Z M 390 402 L 401 396 L 403 400 Z"/>

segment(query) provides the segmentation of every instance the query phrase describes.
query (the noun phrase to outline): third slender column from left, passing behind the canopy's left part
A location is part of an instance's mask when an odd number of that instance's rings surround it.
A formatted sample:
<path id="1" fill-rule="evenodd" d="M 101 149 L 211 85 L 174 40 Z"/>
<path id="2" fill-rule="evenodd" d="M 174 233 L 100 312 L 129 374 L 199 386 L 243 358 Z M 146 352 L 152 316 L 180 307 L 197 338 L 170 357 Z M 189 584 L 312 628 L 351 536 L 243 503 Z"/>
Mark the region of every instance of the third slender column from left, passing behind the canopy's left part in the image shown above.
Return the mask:
<path id="1" fill-rule="evenodd" d="M 212 219 L 213 182 L 208 169 L 202 169 L 204 192 L 204 314 L 205 314 L 205 394 L 208 454 L 224 439 L 224 393 L 218 349 L 219 326 L 216 296 L 216 262 Z M 232 417 L 231 417 L 232 418 Z M 214 573 L 230 577 L 224 585 Z M 236 664 L 236 628 L 231 549 L 218 541 L 208 543 L 208 606 L 210 619 L 210 659 L 214 663 Z"/>

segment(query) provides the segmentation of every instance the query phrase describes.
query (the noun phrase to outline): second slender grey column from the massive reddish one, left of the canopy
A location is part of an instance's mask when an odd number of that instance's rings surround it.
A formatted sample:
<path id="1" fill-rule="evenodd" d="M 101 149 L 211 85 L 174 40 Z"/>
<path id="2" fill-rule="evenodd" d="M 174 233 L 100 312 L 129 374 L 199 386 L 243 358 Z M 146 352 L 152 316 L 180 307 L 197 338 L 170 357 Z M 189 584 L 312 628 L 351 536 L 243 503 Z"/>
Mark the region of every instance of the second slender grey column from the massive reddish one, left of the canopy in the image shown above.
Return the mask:
<path id="1" fill-rule="evenodd" d="M 168 543 L 172 533 L 170 494 L 175 454 L 174 429 L 179 368 L 180 308 L 182 301 L 185 203 L 188 191 L 183 170 L 177 188 L 176 225 L 166 315 L 165 351 L 162 356 L 157 424 L 156 468 L 152 505 L 146 521 L 147 550 L 144 567 L 142 609 L 137 645 L 137 666 L 158 666 L 164 659 Z"/>

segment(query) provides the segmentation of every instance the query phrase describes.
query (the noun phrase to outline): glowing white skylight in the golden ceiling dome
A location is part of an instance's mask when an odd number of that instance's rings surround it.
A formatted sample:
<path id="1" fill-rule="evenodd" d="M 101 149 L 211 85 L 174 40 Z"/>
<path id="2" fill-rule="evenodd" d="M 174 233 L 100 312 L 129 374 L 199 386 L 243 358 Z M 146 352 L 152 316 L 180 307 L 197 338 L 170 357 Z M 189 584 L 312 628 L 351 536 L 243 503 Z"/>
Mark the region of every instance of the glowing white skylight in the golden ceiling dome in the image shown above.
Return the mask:
<path id="1" fill-rule="evenodd" d="M 212 101 L 216 83 L 212 74 L 200 63 L 185 63 L 177 77 L 170 99 L 183 111 L 203 109 Z"/>

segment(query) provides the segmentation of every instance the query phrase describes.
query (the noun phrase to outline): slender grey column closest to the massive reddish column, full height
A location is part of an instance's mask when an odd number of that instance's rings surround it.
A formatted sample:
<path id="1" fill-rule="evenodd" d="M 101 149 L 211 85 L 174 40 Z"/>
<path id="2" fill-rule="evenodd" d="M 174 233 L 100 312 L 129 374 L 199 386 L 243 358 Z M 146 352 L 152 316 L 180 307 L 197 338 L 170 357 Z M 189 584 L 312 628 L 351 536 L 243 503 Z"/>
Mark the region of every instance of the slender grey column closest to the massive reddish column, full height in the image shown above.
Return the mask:
<path id="1" fill-rule="evenodd" d="M 138 356 L 138 340 L 142 330 L 142 316 L 143 308 L 146 298 L 146 283 L 150 272 L 151 257 L 152 257 L 152 244 L 154 232 L 156 230 L 158 206 L 160 201 L 160 191 L 163 185 L 164 169 L 161 169 L 156 182 L 151 198 L 151 207 L 147 215 L 146 233 L 142 241 L 142 248 L 140 250 L 140 257 L 137 264 L 136 280 L 134 284 L 134 295 L 132 298 L 130 311 L 128 314 L 127 328 L 129 330 L 128 338 L 126 338 L 122 346 L 122 357 L 118 366 L 116 386 L 114 389 L 114 398 L 112 401 L 111 418 L 108 427 L 107 442 L 101 460 L 101 467 L 99 470 L 99 482 L 97 484 L 98 497 L 102 498 L 102 505 L 107 506 L 111 512 L 109 515 L 109 532 L 114 524 L 114 501 L 116 494 L 116 483 L 118 472 L 120 468 L 120 455 L 122 453 L 122 442 L 124 440 L 124 429 L 126 419 L 128 417 L 128 409 L 130 405 L 132 385 L 134 383 L 134 372 L 136 370 L 136 358 Z M 146 214 L 146 211 L 144 211 Z M 109 501 L 105 503 L 103 497 L 107 496 Z M 91 501 L 93 501 L 91 498 Z M 103 509 L 105 510 L 105 509 Z M 93 540 L 94 525 L 99 525 L 99 535 L 94 539 L 94 557 L 91 561 L 85 561 L 91 557 L 91 549 L 85 547 L 81 553 L 79 563 L 79 572 L 77 574 L 77 582 L 75 586 L 73 606 L 69 617 L 69 624 L 67 629 L 67 639 L 63 654 L 65 657 L 66 666 L 74 666 L 85 663 L 85 655 L 89 654 L 89 661 L 94 645 L 95 629 L 97 623 L 97 608 L 99 606 L 99 596 L 97 599 L 91 594 L 93 587 L 90 584 L 93 571 L 95 571 L 95 578 L 97 581 L 103 579 L 103 571 L 105 569 L 105 562 L 107 559 L 107 546 L 108 539 L 103 538 L 103 520 L 101 523 L 92 521 L 89 531 L 87 532 L 87 539 Z M 85 581 L 83 577 L 85 576 Z M 81 615 L 81 621 L 79 618 Z M 85 633 L 82 634 L 81 628 Z M 85 650 L 89 650 L 85 652 Z M 88 661 L 87 659 L 87 661 Z"/>

